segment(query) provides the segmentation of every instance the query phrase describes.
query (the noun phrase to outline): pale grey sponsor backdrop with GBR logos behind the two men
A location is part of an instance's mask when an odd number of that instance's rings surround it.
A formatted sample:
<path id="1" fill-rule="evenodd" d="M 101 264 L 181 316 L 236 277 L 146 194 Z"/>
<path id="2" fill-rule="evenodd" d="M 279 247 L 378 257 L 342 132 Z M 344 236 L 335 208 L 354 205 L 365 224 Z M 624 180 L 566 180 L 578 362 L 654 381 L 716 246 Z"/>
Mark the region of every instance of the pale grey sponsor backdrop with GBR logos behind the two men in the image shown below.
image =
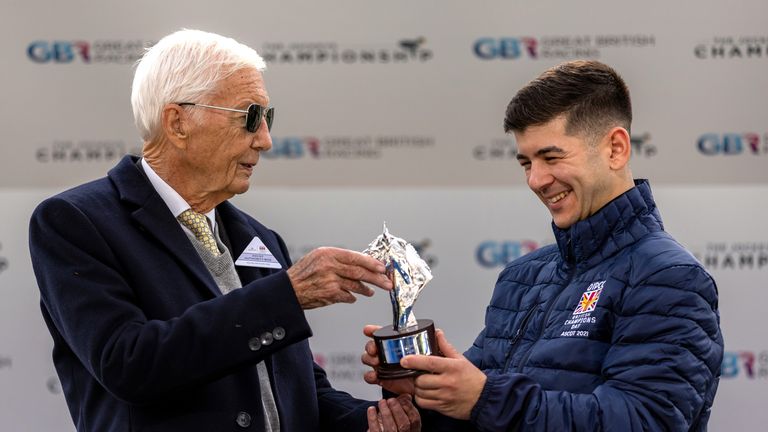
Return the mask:
<path id="1" fill-rule="evenodd" d="M 416 305 L 464 349 L 503 265 L 552 241 L 501 127 L 514 92 L 561 61 L 614 66 L 633 94 L 636 176 L 667 228 L 712 271 L 726 340 L 711 430 L 768 412 L 768 4 L 396 0 L 244 4 L 6 0 L 0 92 L 0 430 L 72 430 L 31 273 L 27 220 L 57 191 L 141 150 L 132 64 L 176 29 L 219 32 L 268 62 L 277 108 L 242 208 L 294 259 L 362 250 L 386 220 L 433 266 Z M 269 203 L 265 205 L 264 203 Z M 366 323 L 387 296 L 308 313 L 332 382 L 362 382 Z"/>

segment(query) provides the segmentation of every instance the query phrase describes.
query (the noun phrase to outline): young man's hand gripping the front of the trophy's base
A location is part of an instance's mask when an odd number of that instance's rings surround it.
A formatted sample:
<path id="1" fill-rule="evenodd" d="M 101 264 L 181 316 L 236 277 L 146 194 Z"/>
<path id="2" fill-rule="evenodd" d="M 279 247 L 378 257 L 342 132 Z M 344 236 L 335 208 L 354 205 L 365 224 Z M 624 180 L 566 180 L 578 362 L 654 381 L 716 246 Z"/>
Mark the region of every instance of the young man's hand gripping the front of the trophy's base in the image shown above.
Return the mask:
<path id="1" fill-rule="evenodd" d="M 409 355 L 400 360 L 400 365 L 431 372 L 416 377 L 416 403 L 421 408 L 468 420 L 486 376 L 448 343 L 442 330 L 436 333 L 437 345 L 445 357 Z"/>

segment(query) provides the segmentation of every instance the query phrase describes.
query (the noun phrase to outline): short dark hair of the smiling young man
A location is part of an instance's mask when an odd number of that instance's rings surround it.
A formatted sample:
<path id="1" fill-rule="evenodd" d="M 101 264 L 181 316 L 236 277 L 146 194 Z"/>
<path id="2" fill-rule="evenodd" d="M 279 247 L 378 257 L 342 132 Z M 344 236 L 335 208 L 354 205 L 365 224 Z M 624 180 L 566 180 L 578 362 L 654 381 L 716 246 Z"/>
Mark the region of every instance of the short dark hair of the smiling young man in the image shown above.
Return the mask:
<path id="1" fill-rule="evenodd" d="M 598 61 L 562 63 L 517 92 L 507 105 L 504 132 L 524 132 L 561 115 L 569 135 L 595 138 L 615 126 L 629 132 L 629 89 L 615 70 Z"/>

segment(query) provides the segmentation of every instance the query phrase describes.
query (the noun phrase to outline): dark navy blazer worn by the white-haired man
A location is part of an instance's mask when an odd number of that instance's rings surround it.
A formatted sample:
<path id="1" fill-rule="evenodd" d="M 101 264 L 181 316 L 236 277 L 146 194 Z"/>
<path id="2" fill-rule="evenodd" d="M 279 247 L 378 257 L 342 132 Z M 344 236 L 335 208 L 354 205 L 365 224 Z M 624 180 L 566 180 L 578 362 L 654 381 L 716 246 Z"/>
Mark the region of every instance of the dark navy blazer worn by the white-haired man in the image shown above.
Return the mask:
<path id="1" fill-rule="evenodd" d="M 233 257 L 258 236 L 283 269 L 237 267 L 243 288 L 222 295 L 134 157 L 33 213 L 41 309 L 77 430 L 261 430 L 262 360 L 283 431 L 365 430 L 371 403 L 313 362 L 280 236 L 228 202 L 217 214 Z"/>

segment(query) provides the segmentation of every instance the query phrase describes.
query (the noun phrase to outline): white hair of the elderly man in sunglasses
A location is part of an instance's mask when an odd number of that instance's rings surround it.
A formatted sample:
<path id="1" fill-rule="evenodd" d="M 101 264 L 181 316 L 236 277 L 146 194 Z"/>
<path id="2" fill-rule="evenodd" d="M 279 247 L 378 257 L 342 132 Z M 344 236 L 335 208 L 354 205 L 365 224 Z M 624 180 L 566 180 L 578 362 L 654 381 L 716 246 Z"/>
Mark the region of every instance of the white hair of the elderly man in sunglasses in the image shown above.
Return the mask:
<path id="1" fill-rule="evenodd" d="M 233 73 L 266 69 L 253 49 L 215 33 L 179 30 L 147 49 L 136 66 L 131 105 L 136 127 L 149 142 L 160 133 L 163 107 L 174 102 L 202 102 Z"/>

